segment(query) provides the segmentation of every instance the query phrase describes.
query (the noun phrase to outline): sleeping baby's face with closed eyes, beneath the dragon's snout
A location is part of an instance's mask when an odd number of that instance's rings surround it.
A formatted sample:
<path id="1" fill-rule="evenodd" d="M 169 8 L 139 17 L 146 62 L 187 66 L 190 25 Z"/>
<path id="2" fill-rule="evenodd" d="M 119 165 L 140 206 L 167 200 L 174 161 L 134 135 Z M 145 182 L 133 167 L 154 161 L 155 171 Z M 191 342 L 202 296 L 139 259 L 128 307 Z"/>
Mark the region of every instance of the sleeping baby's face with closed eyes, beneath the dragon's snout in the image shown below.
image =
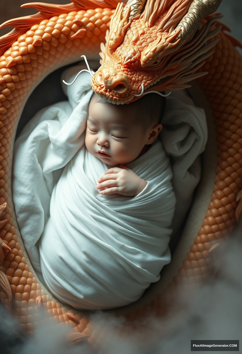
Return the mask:
<path id="1" fill-rule="evenodd" d="M 90 101 L 85 144 L 87 150 L 110 166 L 127 164 L 136 159 L 150 133 L 135 124 L 134 109 L 129 105 Z"/>

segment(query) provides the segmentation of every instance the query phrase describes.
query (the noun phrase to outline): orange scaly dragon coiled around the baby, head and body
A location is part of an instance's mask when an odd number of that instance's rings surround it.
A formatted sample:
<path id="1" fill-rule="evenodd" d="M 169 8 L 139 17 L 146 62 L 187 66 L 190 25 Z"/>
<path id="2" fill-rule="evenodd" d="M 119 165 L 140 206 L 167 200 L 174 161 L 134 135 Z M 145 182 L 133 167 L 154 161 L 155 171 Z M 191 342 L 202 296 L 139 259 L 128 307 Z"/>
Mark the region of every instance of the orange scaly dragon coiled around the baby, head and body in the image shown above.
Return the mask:
<path id="1" fill-rule="evenodd" d="M 191 286 L 210 274 L 214 241 L 220 242 L 234 228 L 241 210 L 236 210 L 240 195 L 236 196 L 242 187 L 242 67 L 235 49 L 240 44 L 224 33 L 227 28 L 217 21 L 220 17 L 212 15 L 220 2 L 148 0 L 143 12 L 142 0 L 126 6 L 115 0 L 35 2 L 23 6 L 36 8 L 37 14 L 1 25 L 15 29 L 0 38 L 0 298 L 25 335 L 33 333 L 41 307 L 50 320 L 73 327 L 69 342 L 86 339 L 98 348 L 102 338 L 92 330 L 87 312 L 83 315 L 56 301 L 36 278 L 13 210 L 11 162 L 18 120 L 33 89 L 80 55 L 98 58 L 105 38 L 102 65 L 92 78 L 94 91 L 119 104 L 137 99 L 134 94 L 141 92 L 142 83 L 147 91 L 157 81 L 155 89 L 164 91 L 188 87 L 187 82 L 196 79 L 210 104 L 217 134 L 211 202 L 190 252 L 162 292 L 145 304 L 137 302 L 135 309 L 123 310 L 126 320 L 165 314 L 178 286 Z"/>

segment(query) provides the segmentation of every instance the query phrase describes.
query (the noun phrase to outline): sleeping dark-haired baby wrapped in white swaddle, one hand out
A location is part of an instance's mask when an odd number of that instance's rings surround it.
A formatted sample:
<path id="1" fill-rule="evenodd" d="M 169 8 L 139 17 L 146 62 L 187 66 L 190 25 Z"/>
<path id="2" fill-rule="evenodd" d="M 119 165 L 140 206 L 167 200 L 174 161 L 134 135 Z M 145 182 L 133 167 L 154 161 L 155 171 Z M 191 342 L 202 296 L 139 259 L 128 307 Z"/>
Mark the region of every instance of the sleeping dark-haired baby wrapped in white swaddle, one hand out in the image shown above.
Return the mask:
<path id="1" fill-rule="evenodd" d="M 110 309 L 160 279 L 175 207 L 172 170 L 157 139 L 164 99 L 113 105 L 94 94 L 85 144 L 64 167 L 39 244 L 41 272 L 60 301 Z"/>

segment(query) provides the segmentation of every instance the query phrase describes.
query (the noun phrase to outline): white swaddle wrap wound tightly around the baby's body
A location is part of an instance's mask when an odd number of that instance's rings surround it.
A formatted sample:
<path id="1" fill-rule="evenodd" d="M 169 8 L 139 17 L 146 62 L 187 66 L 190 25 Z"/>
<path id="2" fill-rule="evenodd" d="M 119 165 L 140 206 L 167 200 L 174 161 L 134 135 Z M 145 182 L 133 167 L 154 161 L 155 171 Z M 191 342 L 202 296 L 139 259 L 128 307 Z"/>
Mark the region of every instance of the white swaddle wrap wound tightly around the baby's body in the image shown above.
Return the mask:
<path id="1" fill-rule="evenodd" d="M 53 189 L 41 271 L 51 292 L 75 308 L 132 303 L 170 262 L 175 197 L 161 142 L 126 165 L 148 182 L 135 197 L 99 194 L 97 179 L 108 166 L 85 146 Z"/>

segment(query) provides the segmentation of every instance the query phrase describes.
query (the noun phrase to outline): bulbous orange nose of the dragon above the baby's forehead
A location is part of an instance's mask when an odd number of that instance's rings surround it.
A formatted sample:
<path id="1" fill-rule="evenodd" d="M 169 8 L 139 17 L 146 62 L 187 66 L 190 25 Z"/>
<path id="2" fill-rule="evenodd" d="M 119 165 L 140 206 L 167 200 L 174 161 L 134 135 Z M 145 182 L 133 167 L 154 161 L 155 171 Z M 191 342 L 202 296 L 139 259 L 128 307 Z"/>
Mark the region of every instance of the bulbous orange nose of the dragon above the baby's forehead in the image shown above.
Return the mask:
<path id="1" fill-rule="evenodd" d="M 128 75 L 114 68 L 102 68 L 98 70 L 96 80 L 100 85 L 116 93 L 126 93 L 128 90 Z"/>

